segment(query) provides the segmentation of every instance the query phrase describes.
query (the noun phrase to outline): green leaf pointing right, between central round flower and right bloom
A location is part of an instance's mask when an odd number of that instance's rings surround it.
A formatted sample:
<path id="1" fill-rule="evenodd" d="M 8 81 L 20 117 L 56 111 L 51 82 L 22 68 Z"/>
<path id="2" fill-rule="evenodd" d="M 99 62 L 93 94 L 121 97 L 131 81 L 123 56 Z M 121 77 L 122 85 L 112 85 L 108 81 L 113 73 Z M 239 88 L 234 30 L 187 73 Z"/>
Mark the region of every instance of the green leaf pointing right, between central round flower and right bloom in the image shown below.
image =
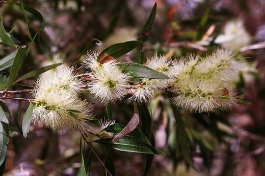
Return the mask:
<path id="1" fill-rule="evenodd" d="M 124 72 L 130 73 L 135 78 L 169 79 L 169 77 L 148 66 L 137 63 L 118 63 Z"/>

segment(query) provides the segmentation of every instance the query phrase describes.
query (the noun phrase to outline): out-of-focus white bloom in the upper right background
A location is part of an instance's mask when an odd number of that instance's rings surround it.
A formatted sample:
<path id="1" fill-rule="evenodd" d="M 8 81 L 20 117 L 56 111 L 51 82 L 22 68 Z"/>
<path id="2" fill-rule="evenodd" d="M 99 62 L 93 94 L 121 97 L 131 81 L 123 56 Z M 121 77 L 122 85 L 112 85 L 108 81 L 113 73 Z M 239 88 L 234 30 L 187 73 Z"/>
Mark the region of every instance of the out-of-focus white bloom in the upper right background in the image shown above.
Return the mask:
<path id="1" fill-rule="evenodd" d="M 231 50 L 239 50 L 250 42 L 251 36 L 245 30 L 241 20 L 227 22 L 224 26 L 224 34 L 219 35 L 214 41 Z"/>

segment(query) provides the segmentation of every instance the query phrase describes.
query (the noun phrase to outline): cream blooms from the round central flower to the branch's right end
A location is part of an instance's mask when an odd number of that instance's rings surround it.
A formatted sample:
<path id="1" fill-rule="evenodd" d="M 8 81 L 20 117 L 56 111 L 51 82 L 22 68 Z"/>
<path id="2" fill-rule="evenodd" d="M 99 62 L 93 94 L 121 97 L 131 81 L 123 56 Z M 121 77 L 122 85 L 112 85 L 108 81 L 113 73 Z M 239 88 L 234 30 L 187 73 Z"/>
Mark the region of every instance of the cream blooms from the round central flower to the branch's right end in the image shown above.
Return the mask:
<path id="1" fill-rule="evenodd" d="M 89 53 L 84 61 L 92 72 L 89 90 L 103 103 L 121 100 L 130 88 L 130 76 L 113 60 L 99 64 L 99 53 Z M 173 60 L 164 55 L 148 58 L 146 66 L 164 73 L 169 79 L 144 78 L 134 88 L 131 99 L 145 102 L 158 90 L 169 90 L 173 103 L 185 110 L 198 112 L 231 109 L 237 103 L 233 85 L 241 62 L 233 52 L 217 49 L 212 55 Z"/>

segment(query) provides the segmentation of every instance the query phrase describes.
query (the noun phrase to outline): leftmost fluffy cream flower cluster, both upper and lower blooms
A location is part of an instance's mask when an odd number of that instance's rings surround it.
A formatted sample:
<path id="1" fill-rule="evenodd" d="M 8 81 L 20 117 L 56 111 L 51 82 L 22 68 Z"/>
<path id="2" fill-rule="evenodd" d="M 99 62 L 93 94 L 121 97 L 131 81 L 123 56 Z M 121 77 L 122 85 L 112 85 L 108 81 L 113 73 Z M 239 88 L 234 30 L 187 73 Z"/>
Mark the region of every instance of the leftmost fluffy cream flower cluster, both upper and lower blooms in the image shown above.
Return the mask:
<path id="1" fill-rule="evenodd" d="M 82 81 L 68 66 L 58 66 L 43 74 L 33 92 L 36 103 L 32 115 L 34 124 L 82 133 L 89 130 L 92 108 L 78 96 L 81 85 Z"/>

